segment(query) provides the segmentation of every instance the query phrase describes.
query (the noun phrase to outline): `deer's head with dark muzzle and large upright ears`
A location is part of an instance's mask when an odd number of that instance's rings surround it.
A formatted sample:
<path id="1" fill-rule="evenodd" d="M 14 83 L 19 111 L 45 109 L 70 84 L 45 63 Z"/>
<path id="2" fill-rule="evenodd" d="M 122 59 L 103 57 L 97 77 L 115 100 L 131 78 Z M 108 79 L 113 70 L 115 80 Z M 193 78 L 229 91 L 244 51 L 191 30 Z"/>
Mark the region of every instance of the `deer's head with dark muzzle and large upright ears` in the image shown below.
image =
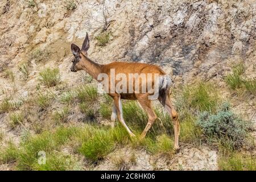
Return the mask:
<path id="1" fill-rule="evenodd" d="M 82 43 L 82 49 L 80 49 L 78 46 L 76 46 L 76 44 L 71 44 L 71 51 L 74 55 L 74 59 L 72 60 L 72 66 L 71 66 L 71 71 L 72 72 L 77 72 L 79 70 L 82 69 L 81 65 L 82 65 L 82 56 L 81 54 L 87 56 L 87 51 L 89 49 L 90 45 L 89 45 L 89 38 L 88 38 L 88 34 L 86 32 L 86 36 L 84 39 L 84 43 Z"/>

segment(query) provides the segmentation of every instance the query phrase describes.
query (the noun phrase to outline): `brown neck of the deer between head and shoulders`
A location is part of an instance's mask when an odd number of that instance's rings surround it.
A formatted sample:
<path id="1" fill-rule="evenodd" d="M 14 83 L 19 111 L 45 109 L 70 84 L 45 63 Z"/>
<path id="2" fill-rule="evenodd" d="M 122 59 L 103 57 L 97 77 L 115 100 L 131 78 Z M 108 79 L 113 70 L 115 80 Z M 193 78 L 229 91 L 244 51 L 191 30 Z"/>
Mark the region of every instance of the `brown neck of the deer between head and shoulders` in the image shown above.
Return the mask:
<path id="1" fill-rule="evenodd" d="M 101 65 L 90 60 L 84 53 L 82 53 L 82 61 L 82 69 L 97 80 L 98 75 L 101 73 Z"/>

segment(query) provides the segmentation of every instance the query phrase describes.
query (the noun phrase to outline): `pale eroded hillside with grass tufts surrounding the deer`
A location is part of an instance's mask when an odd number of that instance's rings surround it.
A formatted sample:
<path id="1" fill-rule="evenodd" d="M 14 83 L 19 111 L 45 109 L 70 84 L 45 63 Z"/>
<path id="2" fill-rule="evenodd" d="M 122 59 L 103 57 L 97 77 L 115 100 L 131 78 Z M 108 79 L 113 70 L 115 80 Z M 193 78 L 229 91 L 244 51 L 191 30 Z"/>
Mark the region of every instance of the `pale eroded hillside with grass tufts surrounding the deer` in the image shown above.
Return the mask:
<path id="1" fill-rule="evenodd" d="M 0 22 L 0 169 L 256 169 L 256 1 L 3 0 Z M 171 76 L 179 153 L 158 104 L 148 137 L 130 139 L 97 82 L 70 71 L 71 43 L 86 32 L 93 61 L 151 63 Z M 123 103 L 139 135 L 147 117 Z"/>

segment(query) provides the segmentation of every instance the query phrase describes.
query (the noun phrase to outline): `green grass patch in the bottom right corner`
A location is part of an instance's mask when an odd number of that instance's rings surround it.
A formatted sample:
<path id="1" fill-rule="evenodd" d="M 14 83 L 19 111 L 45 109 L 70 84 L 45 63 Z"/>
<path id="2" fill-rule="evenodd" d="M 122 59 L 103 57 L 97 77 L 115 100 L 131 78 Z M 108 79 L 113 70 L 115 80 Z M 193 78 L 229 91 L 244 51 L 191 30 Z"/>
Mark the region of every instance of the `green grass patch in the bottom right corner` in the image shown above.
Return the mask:
<path id="1" fill-rule="evenodd" d="M 218 167 L 222 171 L 255 171 L 255 156 L 231 154 L 230 156 L 222 156 L 218 160 Z"/>

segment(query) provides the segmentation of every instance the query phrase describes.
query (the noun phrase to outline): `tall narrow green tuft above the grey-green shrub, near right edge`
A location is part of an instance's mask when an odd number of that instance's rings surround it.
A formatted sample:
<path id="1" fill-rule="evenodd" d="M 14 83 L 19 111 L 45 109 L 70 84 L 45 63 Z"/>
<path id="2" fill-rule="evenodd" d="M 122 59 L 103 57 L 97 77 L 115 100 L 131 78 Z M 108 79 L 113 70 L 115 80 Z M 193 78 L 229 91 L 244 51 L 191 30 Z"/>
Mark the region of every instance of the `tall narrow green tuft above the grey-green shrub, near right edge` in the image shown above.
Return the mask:
<path id="1" fill-rule="evenodd" d="M 245 72 L 245 68 L 243 64 L 237 64 L 232 69 L 233 73 L 230 73 L 226 76 L 225 81 L 231 89 L 241 88 L 243 84 L 243 80 L 241 75 Z"/>

